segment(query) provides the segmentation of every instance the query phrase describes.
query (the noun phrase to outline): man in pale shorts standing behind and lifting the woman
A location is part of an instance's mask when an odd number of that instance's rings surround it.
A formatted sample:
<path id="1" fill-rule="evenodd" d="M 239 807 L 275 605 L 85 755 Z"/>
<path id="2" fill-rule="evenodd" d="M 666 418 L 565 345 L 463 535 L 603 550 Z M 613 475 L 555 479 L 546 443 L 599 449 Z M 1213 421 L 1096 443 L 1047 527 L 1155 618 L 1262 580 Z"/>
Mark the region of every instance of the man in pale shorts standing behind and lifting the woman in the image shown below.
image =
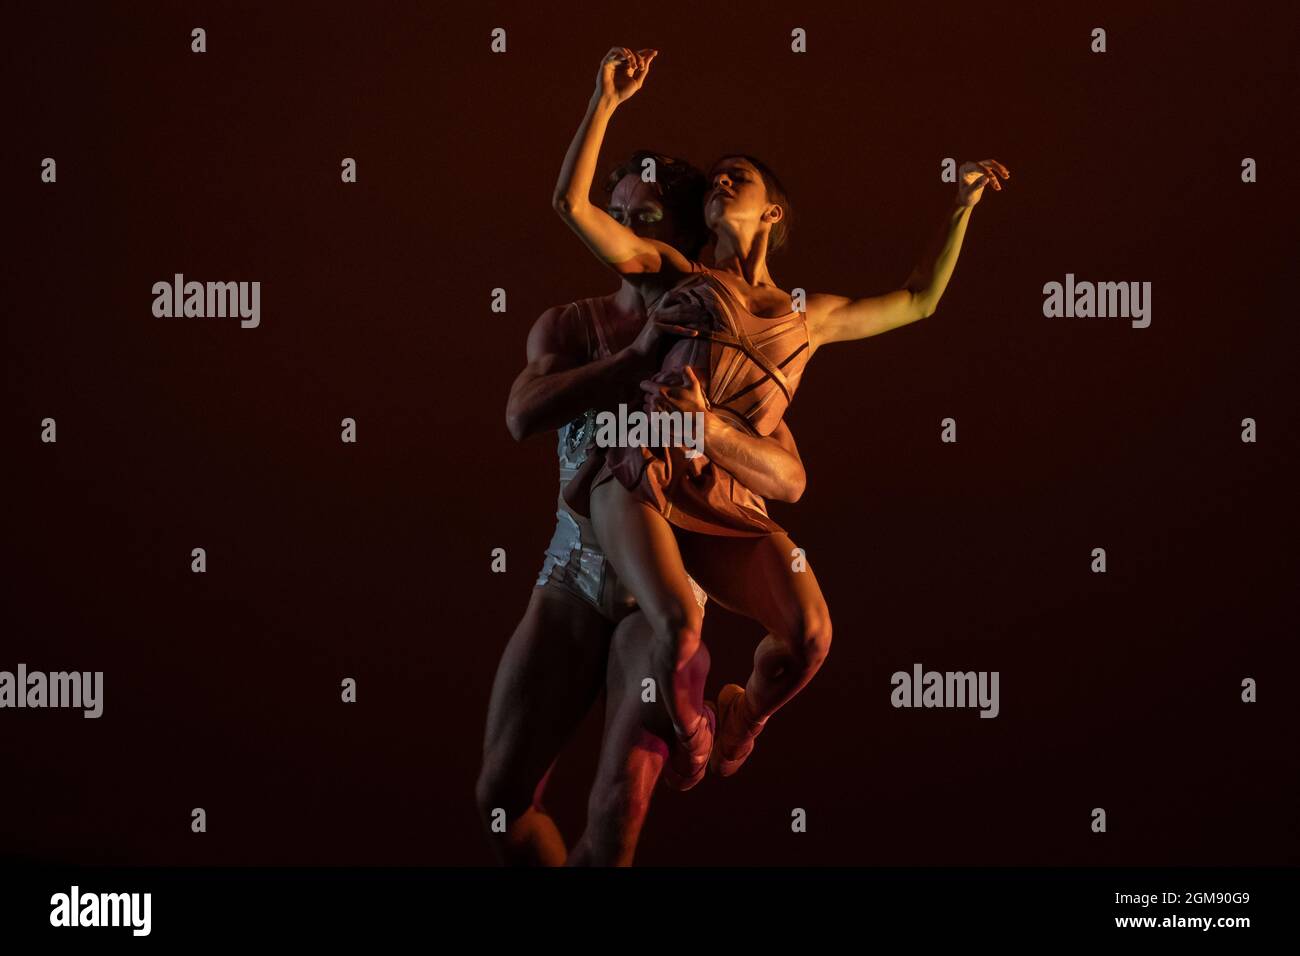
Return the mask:
<path id="1" fill-rule="evenodd" d="M 641 179 L 654 159 L 658 182 Z M 640 152 L 616 169 L 608 213 L 638 235 L 696 258 L 707 238 L 703 176 L 680 160 Z M 521 440 L 559 428 L 560 490 L 585 460 L 594 408 L 629 405 L 636 384 L 658 368 L 663 332 L 647 323 L 637 290 L 625 280 L 612 295 L 543 312 L 528 337 L 528 365 L 511 388 L 507 424 Z M 670 408 L 705 408 L 698 385 L 646 388 Z M 636 402 L 640 407 L 640 401 Z M 757 493 L 797 501 L 803 466 L 783 425 L 757 438 L 705 412 L 705 450 Z M 506 862 L 630 864 L 650 793 L 676 741 L 662 705 L 641 702 L 653 672 L 650 628 L 592 533 L 590 523 L 560 498 L 559 524 L 528 610 L 502 656 L 493 685 L 476 788 L 489 826 L 497 810 L 507 831 L 491 834 Z M 703 594 L 697 589 L 697 602 Z M 708 652 L 686 665 L 703 684 Z M 604 739 L 588 805 L 588 825 L 571 855 L 541 795 L 555 757 L 607 683 Z M 666 782 L 670 775 L 666 775 Z"/>

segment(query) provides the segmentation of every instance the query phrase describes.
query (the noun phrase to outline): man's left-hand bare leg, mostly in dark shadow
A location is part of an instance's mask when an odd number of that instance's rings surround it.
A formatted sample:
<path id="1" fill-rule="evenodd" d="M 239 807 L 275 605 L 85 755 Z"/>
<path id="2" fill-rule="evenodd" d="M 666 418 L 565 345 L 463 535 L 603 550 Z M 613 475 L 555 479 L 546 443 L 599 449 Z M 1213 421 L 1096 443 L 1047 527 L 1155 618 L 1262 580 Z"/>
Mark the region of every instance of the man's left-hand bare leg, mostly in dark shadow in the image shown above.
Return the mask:
<path id="1" fill-rule="evenodd" d="M 533 588 L 497 667 L 478 813 L 502 862 L 560 866 L 564 840 L 541 806 L 550 767 L 604 682 L 612 626 L 562 588 Z M 506 831 L 494 822 L 504 813 Z"/>

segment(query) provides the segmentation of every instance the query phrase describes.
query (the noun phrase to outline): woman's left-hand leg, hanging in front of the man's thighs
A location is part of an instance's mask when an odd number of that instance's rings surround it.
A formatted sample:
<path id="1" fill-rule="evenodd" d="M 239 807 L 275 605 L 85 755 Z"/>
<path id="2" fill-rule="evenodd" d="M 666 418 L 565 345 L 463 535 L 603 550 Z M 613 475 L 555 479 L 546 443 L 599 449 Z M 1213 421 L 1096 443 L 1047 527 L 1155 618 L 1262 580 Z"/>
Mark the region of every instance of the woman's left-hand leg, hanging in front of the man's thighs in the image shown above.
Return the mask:
<path id="1" fill-rule="evenodd" d="M 592 524 L 650 623 L 651 676 L 680 744 L 671 754 L 673 769 L 689 779 L 701 754 L 712 747 L 712 731 L 705 714 L 699 666 L 692 666 L 701 649 L 703 613 L 696 604 L 672 525 L 618 481 L 606 481 L 592 492 Z"/>

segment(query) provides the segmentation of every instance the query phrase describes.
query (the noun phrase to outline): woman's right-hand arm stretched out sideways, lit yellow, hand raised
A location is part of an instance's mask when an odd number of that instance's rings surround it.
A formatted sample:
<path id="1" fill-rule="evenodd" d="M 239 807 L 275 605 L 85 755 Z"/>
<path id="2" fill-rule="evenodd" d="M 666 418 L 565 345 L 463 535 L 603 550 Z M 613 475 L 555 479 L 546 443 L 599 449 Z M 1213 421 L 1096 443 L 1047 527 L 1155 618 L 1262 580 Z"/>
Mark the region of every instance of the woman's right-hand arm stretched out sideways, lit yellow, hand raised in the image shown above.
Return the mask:
<path id="1" fill-rule="evenodd" d="M 881 332 L 933 315 L 957 267 L 971 209 L 980 200 L 985 185 L 992 182 L 994 190 L 1002 189 L 998 176 L 1006 178 L 1010 177 L 1010 172 L 997 160 L 962 165 L 957 203 L 945 215 L 935 241 L 916 263 L 902 289 L 863 299 L 810 295 L 807 312 L 812 349 L 827 342 L 849 342 L 879 336 Z"/>

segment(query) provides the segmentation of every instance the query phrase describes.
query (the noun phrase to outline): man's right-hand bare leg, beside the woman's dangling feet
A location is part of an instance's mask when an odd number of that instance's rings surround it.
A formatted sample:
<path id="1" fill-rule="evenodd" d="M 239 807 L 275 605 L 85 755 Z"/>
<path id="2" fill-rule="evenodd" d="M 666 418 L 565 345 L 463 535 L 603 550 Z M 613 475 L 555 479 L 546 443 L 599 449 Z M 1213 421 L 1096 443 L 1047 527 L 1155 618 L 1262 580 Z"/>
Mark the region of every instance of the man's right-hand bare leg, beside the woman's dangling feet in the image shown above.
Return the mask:
<path id="1" fill-rule="evenodd" d="M 586 808 L 586 830 L 573 844 L 569 866 L 630 866 L 659 771 L 668 758 L 672 722 L 655 696 L 645 700 L 654 676 L 654 630 L 645 614 L 625 618 L 614 632 L 606 679 L 601 762 Z M 699 645 L 688 667 L 703 692 L 708 650 Z"/>

